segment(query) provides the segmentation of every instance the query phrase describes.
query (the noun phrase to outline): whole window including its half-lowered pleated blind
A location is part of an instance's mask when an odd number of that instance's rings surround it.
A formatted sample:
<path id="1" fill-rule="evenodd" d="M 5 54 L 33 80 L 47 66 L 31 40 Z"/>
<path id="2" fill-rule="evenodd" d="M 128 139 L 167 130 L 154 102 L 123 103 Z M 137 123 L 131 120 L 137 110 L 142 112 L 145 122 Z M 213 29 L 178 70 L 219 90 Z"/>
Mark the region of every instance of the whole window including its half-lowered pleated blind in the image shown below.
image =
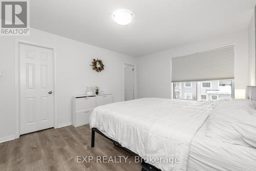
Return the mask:
<path id="1" fill-rule="evenodd" d="M 172 81 L 181 84 L 180 99 L 210 101 L 234 97 L 231 80 L 235 53 L 232 44 L 172 58 Z M 178 88 L 173 90 L 178 98 Z"/>

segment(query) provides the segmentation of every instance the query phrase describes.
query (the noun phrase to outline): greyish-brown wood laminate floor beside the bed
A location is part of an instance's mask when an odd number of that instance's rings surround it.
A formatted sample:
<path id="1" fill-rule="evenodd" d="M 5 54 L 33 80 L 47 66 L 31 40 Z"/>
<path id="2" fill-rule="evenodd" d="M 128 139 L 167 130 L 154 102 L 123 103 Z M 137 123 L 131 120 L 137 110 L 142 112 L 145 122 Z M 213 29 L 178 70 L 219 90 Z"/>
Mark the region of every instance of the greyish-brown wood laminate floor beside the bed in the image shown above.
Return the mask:
<path id="1" fill-rule="evenodd" d="M 77 156 L 93 156 L 90 163 L 77 163 Z M 98 157 L 98 162 L 96 156 Z M 103 163 L 118 156 L 119 163 Z M 111 156 L 111 157 L 110 157 Z M 78 157 L 79 158 L 79 157 Z M 0 170 L 134 170 L 140 171 L 141 164 L 135 157 L 115 146 L 111 141 L 95 132 L 95 147 L 91 148 L 89 125 L 74 128 L 66 126 L 46 129 L 20 136 L 19 139 L 0 143 Z M 83 160 L 81 157 L 80 162 Z M 88 158 L 87 158 L 88 161 Z M 100 163 L 100 161 L 102 163 Z"/>

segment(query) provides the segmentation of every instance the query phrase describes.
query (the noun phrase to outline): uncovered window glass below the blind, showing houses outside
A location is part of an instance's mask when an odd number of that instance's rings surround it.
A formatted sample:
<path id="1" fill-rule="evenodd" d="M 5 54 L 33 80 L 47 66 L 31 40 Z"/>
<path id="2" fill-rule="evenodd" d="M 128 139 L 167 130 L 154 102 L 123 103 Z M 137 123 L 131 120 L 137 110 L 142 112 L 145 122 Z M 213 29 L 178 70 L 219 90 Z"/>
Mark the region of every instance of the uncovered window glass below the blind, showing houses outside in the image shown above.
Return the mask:
<path id="1" fill-rule="evenodd" d="M 234 97 L 232 80 L 173 83 L 174 99 L 212 101 Z"/>

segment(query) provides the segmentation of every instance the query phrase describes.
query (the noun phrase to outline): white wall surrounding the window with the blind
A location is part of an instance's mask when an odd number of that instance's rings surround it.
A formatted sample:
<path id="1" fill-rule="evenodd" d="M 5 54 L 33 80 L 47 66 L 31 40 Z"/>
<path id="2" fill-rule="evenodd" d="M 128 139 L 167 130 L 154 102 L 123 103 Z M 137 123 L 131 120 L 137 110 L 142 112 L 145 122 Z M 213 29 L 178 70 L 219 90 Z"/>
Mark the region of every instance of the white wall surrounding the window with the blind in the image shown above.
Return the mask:
<path id="1" fill-rule="evenodd" d="M 141 56 L 138 59 L 137 72 L 138 97 L 170 98 L 170 58 L 235 42 L 237 42 L 234 75 L 235 88 L 245 88 L 249 83 L 247 29 L 216 37 L 214 39 L 195 42 Z"/>

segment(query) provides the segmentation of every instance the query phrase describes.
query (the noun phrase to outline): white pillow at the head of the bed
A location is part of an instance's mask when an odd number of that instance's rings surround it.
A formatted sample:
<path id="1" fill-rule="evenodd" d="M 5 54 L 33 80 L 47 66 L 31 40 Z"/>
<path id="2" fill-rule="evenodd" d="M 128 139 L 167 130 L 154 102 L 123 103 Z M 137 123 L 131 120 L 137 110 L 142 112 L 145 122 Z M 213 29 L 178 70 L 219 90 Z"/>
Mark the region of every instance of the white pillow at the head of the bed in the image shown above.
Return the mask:
<path id="1" fill-rule="evenodd" d="M 222 142 L 256 147 L 256 102 L 223 100 L 210 112 L 206 136 Z"/>

